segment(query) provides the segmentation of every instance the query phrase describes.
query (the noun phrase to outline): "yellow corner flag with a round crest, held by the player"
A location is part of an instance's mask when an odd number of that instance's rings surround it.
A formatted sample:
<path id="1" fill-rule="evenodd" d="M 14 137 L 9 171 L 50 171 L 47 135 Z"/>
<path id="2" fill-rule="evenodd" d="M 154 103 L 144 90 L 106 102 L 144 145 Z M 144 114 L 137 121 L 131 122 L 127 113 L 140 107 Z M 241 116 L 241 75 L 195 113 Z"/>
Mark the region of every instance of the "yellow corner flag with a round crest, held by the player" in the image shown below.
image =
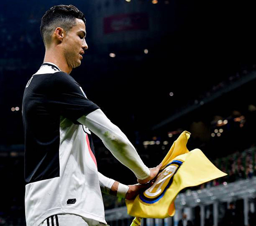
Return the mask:
<path id="1" fill-rule="evenodd" d="M 184 131 L 162 160 L 155 183 L 134 200 L 125 200 L 127 212 L 136 217 L 131 226 L 141 225 L 141 218 L 167 218 L 175 214 L 174 200 L 185 187 L 197 186 L 226 173 L 217 169 L 200 149 L 187 148 L 190 133 Z"/>

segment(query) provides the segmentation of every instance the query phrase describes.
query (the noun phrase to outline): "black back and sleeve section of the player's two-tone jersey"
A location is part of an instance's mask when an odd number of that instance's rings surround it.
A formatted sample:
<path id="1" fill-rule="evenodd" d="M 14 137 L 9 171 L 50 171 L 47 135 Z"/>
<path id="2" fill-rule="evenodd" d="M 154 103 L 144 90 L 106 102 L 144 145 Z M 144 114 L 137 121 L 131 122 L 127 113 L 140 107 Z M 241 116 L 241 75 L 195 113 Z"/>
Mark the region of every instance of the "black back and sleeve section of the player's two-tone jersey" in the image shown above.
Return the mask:
<path id="1" fill-rule="evenodd" d="M 54 66 L 43 65 L 45 68 Z M 29 89 L 25 89 L 22 118 L 27 184 L 60 177 L 61 116 L 76 124 L 78 118 L 99 108 L 84 96 L 79 87 L 71 76 L 56 71 L 54 76 L 52 73 L 37 74 Z M 94 152 L 92 142 L 90 144 Z"/>

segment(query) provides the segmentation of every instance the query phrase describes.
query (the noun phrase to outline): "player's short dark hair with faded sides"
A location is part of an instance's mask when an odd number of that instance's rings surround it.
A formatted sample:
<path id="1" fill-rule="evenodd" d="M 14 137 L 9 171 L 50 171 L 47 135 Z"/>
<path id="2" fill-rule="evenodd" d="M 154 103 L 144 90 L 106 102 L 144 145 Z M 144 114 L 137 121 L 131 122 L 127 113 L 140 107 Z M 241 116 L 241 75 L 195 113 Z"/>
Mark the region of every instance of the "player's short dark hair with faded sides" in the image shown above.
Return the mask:
<path id="1" fill-rule="evenodd" d="M 48 9 L 42 17 L 40 31 L 44 45 L 50 41 L 52 32 L 61 27 L 68 31 L 76 26 L 76 18 L 86 24 L 85 16 L 73 5 L 58 5 Z"/>

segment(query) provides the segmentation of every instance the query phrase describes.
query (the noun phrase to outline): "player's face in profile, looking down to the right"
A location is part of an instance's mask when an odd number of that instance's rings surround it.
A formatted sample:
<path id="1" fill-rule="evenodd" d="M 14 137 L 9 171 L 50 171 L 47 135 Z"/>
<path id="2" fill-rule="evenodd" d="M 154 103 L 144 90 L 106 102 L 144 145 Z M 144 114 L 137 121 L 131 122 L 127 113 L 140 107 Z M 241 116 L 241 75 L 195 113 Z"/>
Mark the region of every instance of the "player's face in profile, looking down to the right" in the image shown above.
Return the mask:
<path id="1" fill-rule="evenodd" d="M 67 65 L 71 68 L 80 66 L 83 54 L 88 45 L 85 41 L 85 23 L 81 19 L 76 19 L 76 26 L 71 28 L 63 40 L 64 55 Z"/>

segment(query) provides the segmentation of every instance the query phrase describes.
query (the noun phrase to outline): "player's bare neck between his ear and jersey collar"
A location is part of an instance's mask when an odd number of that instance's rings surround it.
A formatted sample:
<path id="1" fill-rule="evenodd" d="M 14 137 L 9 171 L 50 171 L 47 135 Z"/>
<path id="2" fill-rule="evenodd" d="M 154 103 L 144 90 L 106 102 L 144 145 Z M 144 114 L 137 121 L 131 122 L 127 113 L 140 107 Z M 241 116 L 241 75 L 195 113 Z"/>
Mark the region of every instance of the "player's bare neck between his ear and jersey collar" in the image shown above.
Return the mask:
<path id="1" fill-rule="evenodd" d="M 43 62 L 52 62 L 67 74 L 70 74 L 72 71 L 72 68 L 67 64 L 62 49 L 58 48 L 57 46 L 55 48 L 45 49 Z"/>

